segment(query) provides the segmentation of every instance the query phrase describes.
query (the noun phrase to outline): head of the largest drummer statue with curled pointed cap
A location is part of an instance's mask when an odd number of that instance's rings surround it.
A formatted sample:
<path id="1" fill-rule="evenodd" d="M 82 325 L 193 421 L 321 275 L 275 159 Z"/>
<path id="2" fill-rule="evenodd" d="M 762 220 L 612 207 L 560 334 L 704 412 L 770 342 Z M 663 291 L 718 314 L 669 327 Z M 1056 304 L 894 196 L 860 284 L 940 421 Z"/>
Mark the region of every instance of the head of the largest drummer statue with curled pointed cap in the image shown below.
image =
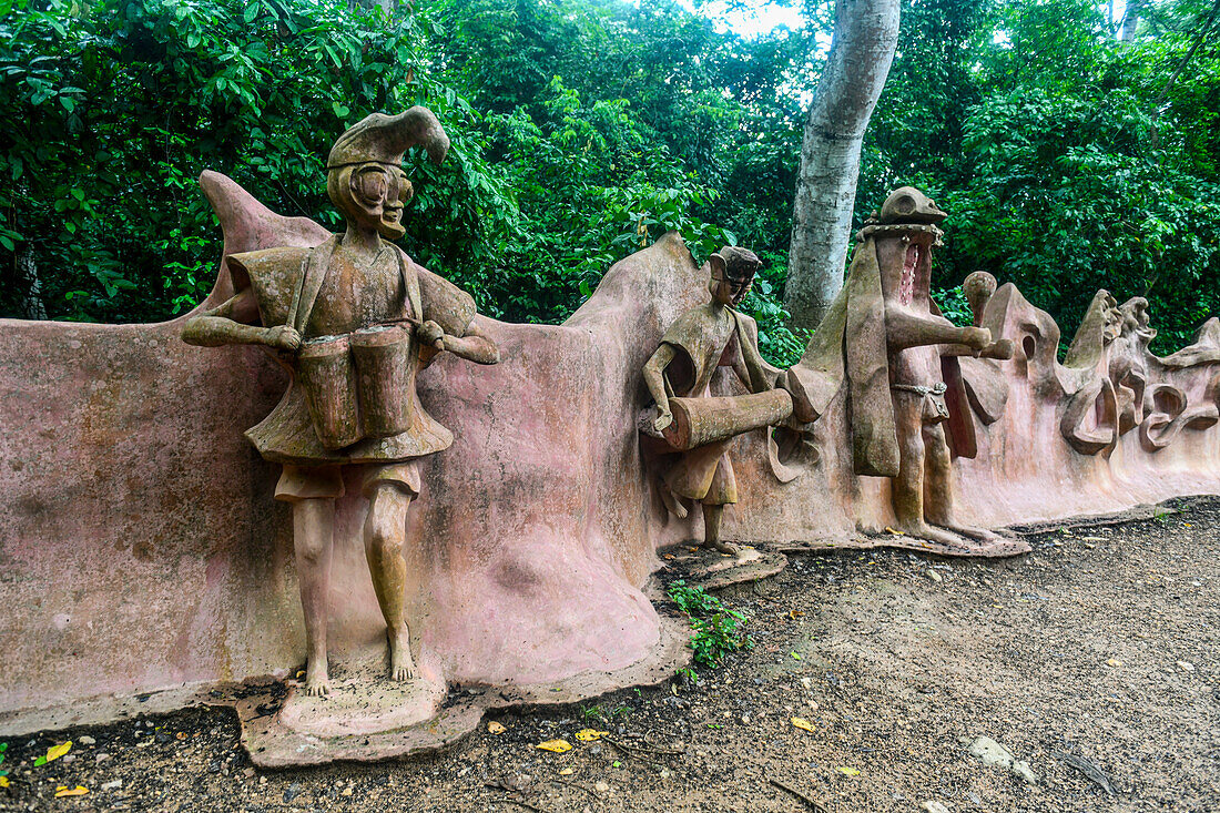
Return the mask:
<path id="1" fill-rule="evenodd" d="M 415 194 L 403 172 L 403 154 L 423 145 L 439 164 L 449 137 L 436 115 L 415 106 L 396 116 L 372 114 L 339 136 L 326 161 L 326 190 L 349 223 L 403 237 L 403 206 Z"/>

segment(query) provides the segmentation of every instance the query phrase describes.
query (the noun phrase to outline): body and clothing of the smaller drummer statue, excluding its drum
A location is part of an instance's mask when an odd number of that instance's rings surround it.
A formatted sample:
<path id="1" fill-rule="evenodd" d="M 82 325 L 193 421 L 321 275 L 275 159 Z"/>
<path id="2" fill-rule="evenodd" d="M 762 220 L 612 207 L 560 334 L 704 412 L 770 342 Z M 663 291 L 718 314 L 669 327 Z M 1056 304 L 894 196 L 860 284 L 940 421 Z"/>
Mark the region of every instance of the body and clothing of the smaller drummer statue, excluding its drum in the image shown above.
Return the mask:
<path id="1" fill-rule="evenodd" d="M 644 365 L 644 383 L 656 402 L 651 430 L 665 436 L 673 424 L 670 398 L 708 398 L 717 366 L 737 374 L 752 393 L 772 388 L 758 348 L 758 325 L 737 311 L 749 293 L 761 262 L 753 251 L 725 247 L 708 258 L 711 302 L 692 308 L 675 320 L 661 344 Z M 791 405 L 789 405 L 791 411 Z M 704 544 L 721 553 L 737 554 L 736 544 L 720 538 L 725 505 L 737 502 L 737 479 L 728 459 L 727 437 L 686 450 L 661 477 L 661 498 L 678 518 L 687 509 L 678 498 L 703 505 Z"/>

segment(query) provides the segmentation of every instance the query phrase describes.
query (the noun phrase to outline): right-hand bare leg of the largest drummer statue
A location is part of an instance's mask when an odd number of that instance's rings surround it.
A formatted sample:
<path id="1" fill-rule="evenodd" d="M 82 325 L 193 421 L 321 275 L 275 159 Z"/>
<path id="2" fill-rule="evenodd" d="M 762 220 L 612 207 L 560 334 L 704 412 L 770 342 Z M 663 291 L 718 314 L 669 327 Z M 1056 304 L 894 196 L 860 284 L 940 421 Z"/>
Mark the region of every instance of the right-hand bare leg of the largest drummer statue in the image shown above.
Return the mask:
<path id="1" fill-rule="evenodd" d="M 386 616 L 392 680 L 415 678 L 411 634 L 406 625 L 406 598 L 403 594 L 406 585 L 403 543 L 410 505 L 409 493 L 393 483 L 381 483 L 368 499 L 368 515 L 365 518 L 365 557 L 373 577 L 377 603 Z"/>

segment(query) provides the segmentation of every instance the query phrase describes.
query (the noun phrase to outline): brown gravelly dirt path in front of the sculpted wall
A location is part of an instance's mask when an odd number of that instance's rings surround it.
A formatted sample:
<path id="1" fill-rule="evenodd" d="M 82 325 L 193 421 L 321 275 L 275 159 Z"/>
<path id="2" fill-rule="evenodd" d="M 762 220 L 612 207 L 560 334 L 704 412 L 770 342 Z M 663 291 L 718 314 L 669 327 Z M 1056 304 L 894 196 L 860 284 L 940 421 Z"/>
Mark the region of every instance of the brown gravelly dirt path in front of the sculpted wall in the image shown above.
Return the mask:
<path id="1" fill-rule="evenodd" d="M 555 813 L 817 809 L 775 779 L 836 813 L 1220 811 L 1220 500 L 1031 541 L 1005 562 L 794 559 L 726 596 L 756 643 L 700 686 L 503 714 L 504 734 L 416 762 L 259 774 L 220 710 L 26 737 L 0 809 L 529 809 L 495 781 Z M 583 728 L 684 753 L 580 742 Z M 1037 782 L 970 756 L 980 736 Z M 32 765 L 68 737 L 73 759 Z M 534 748 L 553 737 L 575 748 Z M 90 792 L 51 798 L 78 784 Z"/>

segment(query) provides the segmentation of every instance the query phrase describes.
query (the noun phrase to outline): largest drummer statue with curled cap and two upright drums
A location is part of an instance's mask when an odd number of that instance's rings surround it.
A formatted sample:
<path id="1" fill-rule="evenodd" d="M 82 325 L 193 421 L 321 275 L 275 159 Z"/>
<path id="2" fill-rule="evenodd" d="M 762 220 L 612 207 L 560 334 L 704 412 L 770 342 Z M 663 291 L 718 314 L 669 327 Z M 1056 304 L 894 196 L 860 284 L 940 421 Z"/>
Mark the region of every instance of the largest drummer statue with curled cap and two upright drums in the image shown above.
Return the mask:
<path id="1" fill-rule="evenodd" d="M 387 242 L 405 233 L 403 206 L 412 189 L 403 154 L 420 144 L 436 162 L 449 148 L 436 116 L 418 106 L 373 114 L 340 136 L 326 186 L 346 232 L 312 249 L 229 255 L 237 294 L 183 330 L 190 344 L 273 348 L 292 371 L 283 399 L 246 437 L 264 458 L 283 464 L 276 499 L 293 505 L 309 695 L 329 691 L 334 500 L 345 492 L 348 466 L 360 466 L 368 498 L 365 553 L 386 618 L 389 674 L 415 676 L 404 596 L 406 515 L 420 493 L 420 458 L 453 443 L 420 405 L 415 375 L 442 350 L 499 361 L 495 343 L 472 322 L 470 294 Z"/>

